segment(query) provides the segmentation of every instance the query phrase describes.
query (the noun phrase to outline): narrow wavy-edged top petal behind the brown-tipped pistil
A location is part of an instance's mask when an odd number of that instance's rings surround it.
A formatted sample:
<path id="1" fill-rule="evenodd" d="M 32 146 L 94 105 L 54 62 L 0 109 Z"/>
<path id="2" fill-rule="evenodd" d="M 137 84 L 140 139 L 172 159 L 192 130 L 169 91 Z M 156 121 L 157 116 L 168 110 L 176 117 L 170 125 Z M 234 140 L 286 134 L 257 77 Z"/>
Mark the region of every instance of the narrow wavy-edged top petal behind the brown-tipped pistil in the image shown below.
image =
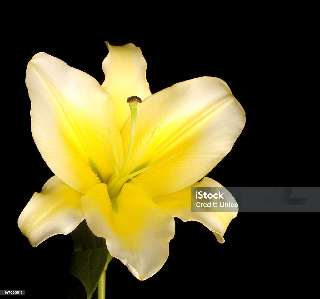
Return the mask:
<path id="1" fill-rule="evenodd" d="M 103 60 L 102 69 L 106 79 L 101 85 L 115 105 L 116 120 L 121 131 L 130 116 L 126 99 L 135 95 L 142 100 L 151 95 L 146 79 L 147 63 L 139 47 L 132 43 L 111 46 L 108 42 L 108 56 Z"/>

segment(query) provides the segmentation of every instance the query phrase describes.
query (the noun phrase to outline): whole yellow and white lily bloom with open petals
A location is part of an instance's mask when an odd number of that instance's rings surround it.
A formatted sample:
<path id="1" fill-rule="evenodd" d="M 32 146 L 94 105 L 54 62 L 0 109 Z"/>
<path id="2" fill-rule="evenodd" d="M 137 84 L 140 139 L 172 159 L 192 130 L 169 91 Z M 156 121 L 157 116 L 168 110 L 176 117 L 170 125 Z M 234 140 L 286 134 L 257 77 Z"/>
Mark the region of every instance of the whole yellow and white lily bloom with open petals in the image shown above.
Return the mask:
<path id="1" fill-rule="evenodd" d="M 37 246 L 85 219 L 143 280 L 168 258 L 174 217 L 201 222 L 224 242 L 237 212 L 191 212 L 190 187 L 221 186 L 202 178 L 231 150 L 245 113 L 214 77 L 151 95 L 140 48 L 106 44 L 101 86 L 45 53 L 28 64 L 31 130 L 55 176 L 34 193 L 18 225 Z M 133 95 L 142 103 L 130 110 Z"/>

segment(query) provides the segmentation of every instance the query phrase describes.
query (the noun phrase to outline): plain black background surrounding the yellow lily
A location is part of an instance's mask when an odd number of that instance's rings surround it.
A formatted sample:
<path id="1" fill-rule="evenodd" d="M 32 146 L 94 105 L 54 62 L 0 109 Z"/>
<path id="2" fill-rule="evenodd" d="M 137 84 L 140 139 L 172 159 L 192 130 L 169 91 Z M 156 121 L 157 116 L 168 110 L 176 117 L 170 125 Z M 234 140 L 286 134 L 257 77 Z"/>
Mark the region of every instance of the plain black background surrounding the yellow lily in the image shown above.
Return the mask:
<path id="1" fill-rule="evenodd" d="M 219 13 L 217 13 L 219 14 Z M 229 186 L 318 186 L 317 88 L 312 83 L 312 23 L 282 15 L 234 20 L 232 25 L 206 17 L 186 18 L 174 26 L 127 20 L 126 27 L 106 19 L 88 27 L 85 20 L 64 28 L 56 18 L 5 34 L 3 63 L 3 209 L 1 289 L 25 289 L 30 298 L 68 298 L 70 235 L 57 235 L 33 248 L 17 219 L 32 194 L 52 176 L 30 131 L 30 100 L 25 86 L 28 61 L 46 52 L 83 70 L 100 83 L 104 41 L 139 46 L 147 61 L 147 80 L 155 93 L 199 76 L 226 81 L 244 107 L 247 122 L 231 152 L 208 177 Z M 166 23 L 162 16 L 152 24 Z M 152 19 L 152 18 L 151 18 Z M 141 20 L 141 22 L 140 22 Z M 150 20 L 150 18 L 149 18 Z M 227 22 L 228 20 L 228 22 Z M 140 23 L 138 26 L 137 23 Z M 150 28 L 151 26 L 151 28 Z M 151 29 L 151 31 L 149 31 Z M 7 106 L 8 105 L 8 106 Z M 317 153 L 317 155 L 316 155 Z M 199 166 L 200 167 L 200 166 Z M 226 242 L 195 222 L 176 219 L 176 234 L 164 267 L 146 281 L 135 279 L 118 260 L 107 271 L 107 294 L 166 297 L 197 296 L 217 290 L 226 295 L 308 291 L 310 269 L 318 262 L 318 213 L 239 213 Z M 171 288 L 172 287 L 172 288 Z M 27 296 L 27 297 L 28 297 Z"/>

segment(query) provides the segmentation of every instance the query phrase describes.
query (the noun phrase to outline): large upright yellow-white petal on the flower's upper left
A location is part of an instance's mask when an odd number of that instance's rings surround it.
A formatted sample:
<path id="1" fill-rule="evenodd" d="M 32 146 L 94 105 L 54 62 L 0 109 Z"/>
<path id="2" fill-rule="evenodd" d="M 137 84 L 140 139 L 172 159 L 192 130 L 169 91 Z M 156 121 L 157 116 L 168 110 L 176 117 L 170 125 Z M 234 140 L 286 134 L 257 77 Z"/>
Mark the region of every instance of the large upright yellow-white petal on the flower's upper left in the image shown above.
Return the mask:
<path id="1" fill-rule="evenodd" d="M 123 150 L 113 104 L 99 83 L 60 59 L 38 53 L 28 64 L 26 84 L 33 138 L 54 174 L 81 193 L 100 179 L 107 181 L 113 172 L 109 130 L 119 159 Z"/>

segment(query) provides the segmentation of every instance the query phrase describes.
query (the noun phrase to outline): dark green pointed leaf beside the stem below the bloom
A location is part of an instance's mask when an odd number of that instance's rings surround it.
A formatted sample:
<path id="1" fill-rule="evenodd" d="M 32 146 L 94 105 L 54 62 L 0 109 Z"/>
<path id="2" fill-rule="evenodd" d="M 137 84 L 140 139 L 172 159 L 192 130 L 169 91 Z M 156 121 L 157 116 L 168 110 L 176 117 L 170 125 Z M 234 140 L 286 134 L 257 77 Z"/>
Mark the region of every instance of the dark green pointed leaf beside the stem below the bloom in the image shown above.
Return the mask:
<path id="1" fill-rule="evenodd" d="M 111 259 L 107 247 L 76 251 L 72 254 L 70 272 L 81 280 L 88 299 L 97 288 L 101 274 L 107 270 Z"/>

